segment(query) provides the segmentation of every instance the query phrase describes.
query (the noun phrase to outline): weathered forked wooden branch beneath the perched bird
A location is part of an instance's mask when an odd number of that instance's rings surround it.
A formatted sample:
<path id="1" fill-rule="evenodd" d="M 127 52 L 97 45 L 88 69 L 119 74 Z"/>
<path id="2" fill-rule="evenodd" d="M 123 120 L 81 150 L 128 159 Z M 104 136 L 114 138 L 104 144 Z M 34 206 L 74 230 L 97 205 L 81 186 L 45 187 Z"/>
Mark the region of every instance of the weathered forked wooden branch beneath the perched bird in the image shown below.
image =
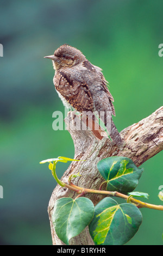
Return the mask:
<path id="1" fill-rule="evenodd" d="M 80 187 L 98 190 L 99 185 L 103 182 L 103 178 L 97 169 L 97 163 L 100 160 L 109 156 L 126 156 L 133 160 L 137 166 L 140 166 L 163 149 L 163 107 L 160 107 L 149 117 L 139 121 L 139 123 L 133 124 L 121 131 L 121 137 L 124 141 L 121 147 L 113 144 L 108 136 L 104 136 L 105 133 L 103 131 L 99 131 L 98 134 L 90 130 L 77 130 L 76 126 L 82 125 L 82 121 L 80 118 L 75 118 L 75 122 L 78 125 L 74 125 L 74 112 L 69 112 L 65 123 L 74 142 L 74 159 L 86 161 L 72 162 L 70 164 L 70 167 L 68 167 L 61 179 L 65 183 L 67 183 L 70 174 L 80 172 L 82 176 L 74 179 L 73 183 Z M 52 223 L 54 203 L 61 197 L 75 198 L 76 196 L 76 192 L 59 185 L 55 187 L 52 193 L 48 214 L 51 223 L 53 245 L 64 245 L 55 234 Z M 87 194 L 87 197 L 95 205 L 103 198 L 99 194 Z M 88 229 L 85 228 L 80 235 L 71 239 L 70 244 L 93 245 Z"/>

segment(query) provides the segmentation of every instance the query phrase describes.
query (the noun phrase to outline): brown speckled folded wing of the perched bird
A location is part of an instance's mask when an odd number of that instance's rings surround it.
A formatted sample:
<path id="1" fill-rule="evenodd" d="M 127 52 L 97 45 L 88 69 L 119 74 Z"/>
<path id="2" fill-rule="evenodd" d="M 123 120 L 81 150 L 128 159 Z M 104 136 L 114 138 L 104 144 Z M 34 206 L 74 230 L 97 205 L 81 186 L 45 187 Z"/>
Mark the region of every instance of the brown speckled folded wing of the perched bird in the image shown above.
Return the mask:
<path id="1" fill-rule="evenodd" d="M 86 82 L 79 82 L 71 78 L 64 71 L 56 72 L 54 76 L 56 90 L 64 96 L 77 111 L 93 111 L 93 99 Z"/>

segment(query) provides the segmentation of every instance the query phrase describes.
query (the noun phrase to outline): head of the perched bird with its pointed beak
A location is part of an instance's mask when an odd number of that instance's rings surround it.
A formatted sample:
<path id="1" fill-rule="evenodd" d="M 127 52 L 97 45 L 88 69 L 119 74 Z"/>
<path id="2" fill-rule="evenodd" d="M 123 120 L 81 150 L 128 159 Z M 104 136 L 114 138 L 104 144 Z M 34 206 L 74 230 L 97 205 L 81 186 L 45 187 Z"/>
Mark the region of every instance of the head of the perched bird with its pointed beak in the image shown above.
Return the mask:
<path id="1" fill-rule="evenodd" d="M 56 70 L 77 65 L 85 60 L 82 52 L 67 44 L 61 45 L 53 55 L 44 58 L 52 59 Z"/>

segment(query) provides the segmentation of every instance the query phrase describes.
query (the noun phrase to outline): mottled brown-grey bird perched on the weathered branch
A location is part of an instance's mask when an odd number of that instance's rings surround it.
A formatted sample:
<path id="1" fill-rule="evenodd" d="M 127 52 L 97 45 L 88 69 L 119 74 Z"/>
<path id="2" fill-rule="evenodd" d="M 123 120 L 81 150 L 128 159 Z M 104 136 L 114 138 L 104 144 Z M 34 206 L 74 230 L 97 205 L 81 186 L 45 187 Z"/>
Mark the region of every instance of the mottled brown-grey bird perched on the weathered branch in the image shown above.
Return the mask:
<path id="1" fill-rule="evenodd" d="M 112 115 L 115 115 L 114 98 L 102 69 L 68 44 L 61 45 L 54 54 L 44 58 L 52 60 L 55 70 L 53 83 L 64 106 L 80 113 L 97 113 L 112 142 L 121 144 L 122 138 L 112 120 Z"/>

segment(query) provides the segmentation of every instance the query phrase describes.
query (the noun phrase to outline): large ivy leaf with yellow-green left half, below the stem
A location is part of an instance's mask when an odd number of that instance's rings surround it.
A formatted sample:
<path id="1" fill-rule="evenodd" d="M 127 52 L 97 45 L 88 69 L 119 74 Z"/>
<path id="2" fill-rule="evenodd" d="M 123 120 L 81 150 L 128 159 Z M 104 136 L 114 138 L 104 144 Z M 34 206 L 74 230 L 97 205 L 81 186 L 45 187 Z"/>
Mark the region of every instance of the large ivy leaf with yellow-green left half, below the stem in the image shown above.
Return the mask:
<path id="1" fill-rule="evenodd" d="M 95 206 L 89 231 L 95 245 L 124 245 L 135 235 L 141 222 L 141 212 L 135 205 L 117 204 L 106 197 Z"/>

